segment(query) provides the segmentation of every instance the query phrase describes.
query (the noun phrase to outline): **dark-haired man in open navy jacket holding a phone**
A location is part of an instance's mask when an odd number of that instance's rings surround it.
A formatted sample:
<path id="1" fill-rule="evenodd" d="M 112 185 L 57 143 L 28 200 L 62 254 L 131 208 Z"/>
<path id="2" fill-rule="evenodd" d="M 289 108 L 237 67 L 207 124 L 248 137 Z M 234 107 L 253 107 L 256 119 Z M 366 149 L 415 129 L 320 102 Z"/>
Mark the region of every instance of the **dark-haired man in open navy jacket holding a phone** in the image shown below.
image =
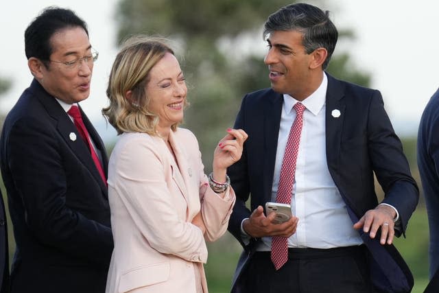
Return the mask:
<path id="1" fill-rule="evenodd" d="M 418 188 L 381 93 L 324 72 L 337 43 L 328 12 L 287 5 L 264 36 L 272 89 L 244 97 L 235 128 L 248 141 L 228 169 L 237 195 L 228 229 L 244 247 L 232 292 L 410 292 L 392 241 Z M 287 222 L 264 214 L 276 201 L 292 205 Z"/>

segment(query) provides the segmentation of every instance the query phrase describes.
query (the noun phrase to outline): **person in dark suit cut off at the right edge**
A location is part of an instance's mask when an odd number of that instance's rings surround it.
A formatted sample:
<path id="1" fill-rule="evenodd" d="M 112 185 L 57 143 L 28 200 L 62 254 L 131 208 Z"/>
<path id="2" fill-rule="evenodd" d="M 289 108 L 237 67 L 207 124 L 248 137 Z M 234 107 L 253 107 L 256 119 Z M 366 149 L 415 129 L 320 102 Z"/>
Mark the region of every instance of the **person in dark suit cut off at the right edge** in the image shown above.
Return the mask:
<path id="1" fill-rule="evenodd" d="M 418 168 L 429 221 L 429 288 L 439 292 L 439 90 L 425 106 L 418 130 Z"/>

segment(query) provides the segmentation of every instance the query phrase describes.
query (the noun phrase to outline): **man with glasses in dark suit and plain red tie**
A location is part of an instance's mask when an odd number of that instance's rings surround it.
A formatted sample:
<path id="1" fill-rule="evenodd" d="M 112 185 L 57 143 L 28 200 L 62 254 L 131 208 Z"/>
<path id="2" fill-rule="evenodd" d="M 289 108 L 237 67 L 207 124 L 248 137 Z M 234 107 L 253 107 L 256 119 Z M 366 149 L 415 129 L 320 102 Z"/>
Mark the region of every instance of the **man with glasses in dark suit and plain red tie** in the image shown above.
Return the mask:
<path id="1" fill-rule="evenodd" d="M 25 31 L 25 53 L 34 80 L 0 141 L 16 241 L 11 290 L 104 292 L 113 245 L 108 160 L 78 106 L 97 52 L 73 11 L 47 8 Z"/>

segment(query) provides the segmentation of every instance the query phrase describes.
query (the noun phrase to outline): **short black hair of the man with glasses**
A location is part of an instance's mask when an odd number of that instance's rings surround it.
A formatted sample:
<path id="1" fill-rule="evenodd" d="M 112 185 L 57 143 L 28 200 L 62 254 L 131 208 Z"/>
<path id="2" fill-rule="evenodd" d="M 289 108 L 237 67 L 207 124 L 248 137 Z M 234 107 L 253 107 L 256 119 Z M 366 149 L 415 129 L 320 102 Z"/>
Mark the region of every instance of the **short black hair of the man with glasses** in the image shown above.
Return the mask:
<path id="1" fill-rule="evenodd" d="M 35 57 L 43 61 L 49 60 L 53 52 L 51 36 L 67 27 L 82 27 L 88 36 L 86 23 L 72 10 L 54 6 L 45 8 L 25 30 L 27 59 Z"/>

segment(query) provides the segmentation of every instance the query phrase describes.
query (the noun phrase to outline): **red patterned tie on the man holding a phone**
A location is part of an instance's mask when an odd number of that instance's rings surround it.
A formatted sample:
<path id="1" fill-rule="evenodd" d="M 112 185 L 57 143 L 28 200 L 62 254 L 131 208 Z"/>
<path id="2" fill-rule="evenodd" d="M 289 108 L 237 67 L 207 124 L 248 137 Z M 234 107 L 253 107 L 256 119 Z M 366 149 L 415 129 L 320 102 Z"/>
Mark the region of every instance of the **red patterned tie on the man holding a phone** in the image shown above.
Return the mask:
<path id="1" fill-rule="evenodd" d="M 294 175 L 296 173 L 296 160 L 299 150 L 300 134 L 302 133 L 303 111 L 305 106 L 300 103 L 294 105 L 296 110 L 296 119 L 293 126 L 289 130 L 287 146 L 285 154 L 283 154 L 283 162 L 281 167 L 281 176 L 279 178 L 279 186 L 277 189 L 276 202 L 283 204 L 291 204 L 291 197 L 294 185 Z M 276 270 L 288 260 L 288 239 L 286 237 L 272 237 L 272 262 Z"/>

